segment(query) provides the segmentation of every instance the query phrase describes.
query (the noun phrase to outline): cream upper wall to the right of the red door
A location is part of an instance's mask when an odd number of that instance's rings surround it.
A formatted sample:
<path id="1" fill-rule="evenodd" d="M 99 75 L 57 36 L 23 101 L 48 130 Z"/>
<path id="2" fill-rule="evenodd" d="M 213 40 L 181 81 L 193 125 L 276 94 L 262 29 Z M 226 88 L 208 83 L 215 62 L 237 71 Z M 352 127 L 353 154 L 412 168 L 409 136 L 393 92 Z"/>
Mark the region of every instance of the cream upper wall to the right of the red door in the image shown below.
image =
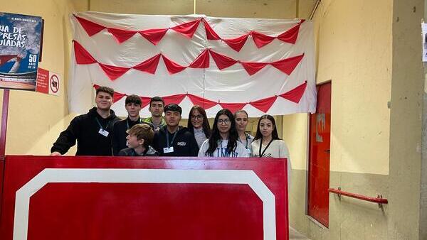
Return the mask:
<path id="1" fill-rule="evenodd" d="M 391 8 L 361 0 L 317 9 L 317 81 L 332 80 L 331 170 L 389 173 Z"/>

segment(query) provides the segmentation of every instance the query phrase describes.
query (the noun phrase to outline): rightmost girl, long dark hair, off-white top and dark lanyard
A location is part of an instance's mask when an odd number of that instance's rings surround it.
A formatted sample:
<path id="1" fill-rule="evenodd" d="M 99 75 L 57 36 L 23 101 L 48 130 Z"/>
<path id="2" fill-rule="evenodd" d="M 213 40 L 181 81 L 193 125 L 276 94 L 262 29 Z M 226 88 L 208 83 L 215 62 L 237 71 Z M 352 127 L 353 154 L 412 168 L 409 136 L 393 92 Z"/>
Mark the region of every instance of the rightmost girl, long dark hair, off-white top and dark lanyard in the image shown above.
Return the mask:
<path id="1" fill-rule="evenodd" d="M 265 114 L 258 121 L 255 139 L 252 142 L 255 158 L 287 158 L 288 185 L 290 185 L 290 156 L 285 141 L 279 138 L 273 116 Z"/>

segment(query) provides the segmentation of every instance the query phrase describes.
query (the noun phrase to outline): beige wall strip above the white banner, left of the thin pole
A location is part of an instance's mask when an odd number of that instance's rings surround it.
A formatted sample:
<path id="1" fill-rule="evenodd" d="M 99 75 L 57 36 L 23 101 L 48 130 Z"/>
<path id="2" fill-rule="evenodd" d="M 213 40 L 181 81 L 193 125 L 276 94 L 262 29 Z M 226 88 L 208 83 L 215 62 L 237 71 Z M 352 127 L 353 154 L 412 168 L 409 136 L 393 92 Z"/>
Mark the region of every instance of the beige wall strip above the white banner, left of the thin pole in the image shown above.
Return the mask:
<path id="1" fill-rule="evenodd" d="M 152 15 L 187 15 L 194 13 L 193 0 L 90 0 L 90 11 Z"/>

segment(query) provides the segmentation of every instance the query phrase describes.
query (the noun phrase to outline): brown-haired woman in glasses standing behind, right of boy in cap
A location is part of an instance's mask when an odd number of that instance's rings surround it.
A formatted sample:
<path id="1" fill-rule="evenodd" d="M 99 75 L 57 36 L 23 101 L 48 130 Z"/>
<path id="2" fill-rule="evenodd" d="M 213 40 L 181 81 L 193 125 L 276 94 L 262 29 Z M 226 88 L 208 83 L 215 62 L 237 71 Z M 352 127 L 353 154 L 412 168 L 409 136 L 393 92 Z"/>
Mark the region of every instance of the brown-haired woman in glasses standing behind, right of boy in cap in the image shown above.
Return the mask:
<path id="1" fill-rule="evenodd" d="M 211 126 L 209 126 L 206 111 L 199 105 L 191 107 L 187 129 L 194 134 L 199 148 L 201 147 L 201 143 L 211 136 Z"/>

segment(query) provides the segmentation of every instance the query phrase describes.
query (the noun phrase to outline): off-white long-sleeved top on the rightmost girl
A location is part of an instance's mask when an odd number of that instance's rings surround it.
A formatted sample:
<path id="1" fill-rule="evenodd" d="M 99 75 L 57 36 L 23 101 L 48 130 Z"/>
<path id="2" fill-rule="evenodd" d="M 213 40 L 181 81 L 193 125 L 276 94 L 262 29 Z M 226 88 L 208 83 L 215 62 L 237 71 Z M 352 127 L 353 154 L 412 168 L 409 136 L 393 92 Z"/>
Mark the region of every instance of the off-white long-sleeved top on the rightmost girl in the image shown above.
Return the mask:
<path id="1" fill-rule="evenodd" d="M 252 156 L 258 158 L 260 156 L 260 142 L 261 139 L 257 139 L 252 142 Z M 290 156 L 288 146 L 285 141 L 276 139 L 270 143 L 267 149 L 266 145 L 261 147 L 261 153 L 263 158 L 288 158 L 288 185 L 290 185 Z M 265 152 L 264 152 L 265 150 Z M 264 153 L 263 153 L 264 152 Z"/>

